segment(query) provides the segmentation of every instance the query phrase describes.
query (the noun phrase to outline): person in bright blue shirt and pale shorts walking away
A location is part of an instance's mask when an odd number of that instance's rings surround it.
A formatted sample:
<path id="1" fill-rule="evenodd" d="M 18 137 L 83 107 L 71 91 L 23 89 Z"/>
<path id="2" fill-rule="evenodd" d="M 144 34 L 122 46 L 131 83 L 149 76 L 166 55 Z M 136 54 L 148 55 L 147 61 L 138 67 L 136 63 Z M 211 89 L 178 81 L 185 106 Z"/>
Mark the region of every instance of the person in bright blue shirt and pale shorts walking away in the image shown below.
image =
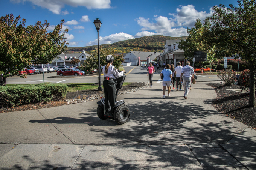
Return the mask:
<path id="1" fill-rule="evenodd" d="M 171 91 L 171 83 L 172 83 L 172 71 L 170 70 L 171 66 L 168 64 L 166 65 L 166 69 L 163 69 L 160 76 L 163 75 L 163 99 L 165 99 L 165 90 L 167 86 L 168 90 L 168 97 L 170 97 Z"/>

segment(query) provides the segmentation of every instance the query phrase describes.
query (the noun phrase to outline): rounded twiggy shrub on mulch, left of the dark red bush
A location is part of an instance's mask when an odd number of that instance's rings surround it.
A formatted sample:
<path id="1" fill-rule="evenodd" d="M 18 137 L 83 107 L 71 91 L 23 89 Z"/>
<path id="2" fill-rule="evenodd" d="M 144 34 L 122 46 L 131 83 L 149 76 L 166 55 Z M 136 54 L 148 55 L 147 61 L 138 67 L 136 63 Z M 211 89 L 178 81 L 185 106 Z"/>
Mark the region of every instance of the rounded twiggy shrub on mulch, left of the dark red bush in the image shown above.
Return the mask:
<path id="1" fill-rule="evenodd" d="M 233 69 L 226 69 L 226 72 L 225 70 L 220 70 L 220 71 L 217 71 L 217 74 L 218 74 L 218 78 L 224 81 L 227 86 L 230 86 L 231 84 L 233 84 L 236 78 L 235 77 L 236 72 L 233 71 Z"/>

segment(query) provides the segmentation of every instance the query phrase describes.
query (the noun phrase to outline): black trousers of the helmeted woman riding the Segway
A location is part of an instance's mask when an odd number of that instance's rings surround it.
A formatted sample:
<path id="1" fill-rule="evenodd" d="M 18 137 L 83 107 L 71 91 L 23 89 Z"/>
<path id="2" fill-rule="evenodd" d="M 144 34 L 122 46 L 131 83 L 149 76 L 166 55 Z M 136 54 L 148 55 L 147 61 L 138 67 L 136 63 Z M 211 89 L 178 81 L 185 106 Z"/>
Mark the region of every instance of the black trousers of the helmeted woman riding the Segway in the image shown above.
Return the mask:
<path id="1" fill-rule="evenodd" d="M 114 105 L 116 103 L 116 84 L 114 80 L 104 80 L 103 89 L 105 94 L 105 109 L 114 113 Z M 108 105 L 110 104 L 110 106 Z"/>

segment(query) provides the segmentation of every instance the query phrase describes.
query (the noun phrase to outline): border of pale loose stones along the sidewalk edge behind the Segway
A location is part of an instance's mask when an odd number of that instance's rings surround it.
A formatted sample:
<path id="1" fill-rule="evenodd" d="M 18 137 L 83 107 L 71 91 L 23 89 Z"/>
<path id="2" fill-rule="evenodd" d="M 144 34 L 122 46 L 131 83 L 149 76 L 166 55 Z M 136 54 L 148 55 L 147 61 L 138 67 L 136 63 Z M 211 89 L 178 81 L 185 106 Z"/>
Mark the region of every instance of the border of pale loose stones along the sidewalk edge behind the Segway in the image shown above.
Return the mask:
<path id="1" fill-rule="evenodd" d="M 143 90 L 146 87 L 150 87 L 150 83 L 148 82 L 137 82 L 137 83 L 146 83 L 144 86 L 136 88 L 136 89 L 131 89 L 131 90 L 126 90 L 126 91 L 122 91 L 118 93 L 118 96 L 120 95 L 124 95 L 124 94 L 128 94 L 128 93 L 132 93 L 132 92 L 136 92 L 139 90 Z M 95 101 L 95 100 L 99 100 L 102 98 L 105 98 L 104 93 L 100 94 L 100 95 L 91 95 L 88 99 L 86 100 L 82 100 L 82 99 L 65 99 L 64 102 L 67 102 L 67 104 L 78 104 L 78 103 L 83 103 L 83 102 L 90 102 L 90 101 Z"/>

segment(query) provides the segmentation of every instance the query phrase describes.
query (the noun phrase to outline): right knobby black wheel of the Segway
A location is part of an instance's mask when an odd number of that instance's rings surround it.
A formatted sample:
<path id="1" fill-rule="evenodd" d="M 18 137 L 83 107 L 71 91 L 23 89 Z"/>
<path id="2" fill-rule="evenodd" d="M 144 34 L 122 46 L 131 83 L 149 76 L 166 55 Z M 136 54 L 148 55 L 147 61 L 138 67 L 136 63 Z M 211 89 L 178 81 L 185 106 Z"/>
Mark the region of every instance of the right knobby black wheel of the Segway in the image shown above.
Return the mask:
<path id="1" fill-rule="evenodd" d="M 130 110 L 128 106 L 126 106 L 125 104 L 122 104 L 116 108 L 114 113 L 114 120 L 119 125 L 122 125 L 128 120 L 129 116 L 130 116 Z"/>

